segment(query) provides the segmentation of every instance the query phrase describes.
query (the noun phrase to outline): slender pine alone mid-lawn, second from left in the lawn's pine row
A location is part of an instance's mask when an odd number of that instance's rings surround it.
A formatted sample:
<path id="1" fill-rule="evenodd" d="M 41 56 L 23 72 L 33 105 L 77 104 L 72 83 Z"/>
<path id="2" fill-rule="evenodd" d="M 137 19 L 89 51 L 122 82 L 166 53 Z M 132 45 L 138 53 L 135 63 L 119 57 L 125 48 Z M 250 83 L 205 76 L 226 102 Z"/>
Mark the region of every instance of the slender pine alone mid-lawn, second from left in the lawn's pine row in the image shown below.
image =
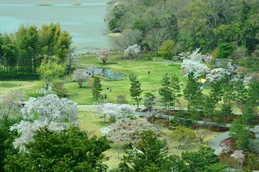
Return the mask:
<path id="1" fill-rule="evenodd" d="M 139 83 L 137 78 L 138 78 L 137 75 L 129 75 L 129 80 L 130 80 L 129 92 L 130 92 L 130 96 L 137 101 L 137 107 L 139 109 L 138 100 L 140 99 L 140 94 L 142 93 L 143 90 L 140 89 L 141 83 Z"/>

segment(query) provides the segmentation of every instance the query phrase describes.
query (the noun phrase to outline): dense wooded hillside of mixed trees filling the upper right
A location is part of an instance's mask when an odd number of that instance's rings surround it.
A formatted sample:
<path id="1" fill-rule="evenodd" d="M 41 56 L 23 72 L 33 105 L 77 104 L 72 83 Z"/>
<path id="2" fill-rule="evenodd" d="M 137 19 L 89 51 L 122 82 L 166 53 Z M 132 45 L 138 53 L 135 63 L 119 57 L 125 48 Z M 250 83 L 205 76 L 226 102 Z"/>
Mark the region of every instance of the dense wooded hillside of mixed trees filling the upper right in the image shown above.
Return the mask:
<path id="1" fill-rule="evenodd" d="M 148 42 L 158 37 L 173 41 L 174 55 L 216 50 L 218 58 L 258 71 L 258 10 L 258 0 L 121 0 L 110 12 L 109 29 L 123 35 L 115 38 L 121 49 L 154 49 Z"/>

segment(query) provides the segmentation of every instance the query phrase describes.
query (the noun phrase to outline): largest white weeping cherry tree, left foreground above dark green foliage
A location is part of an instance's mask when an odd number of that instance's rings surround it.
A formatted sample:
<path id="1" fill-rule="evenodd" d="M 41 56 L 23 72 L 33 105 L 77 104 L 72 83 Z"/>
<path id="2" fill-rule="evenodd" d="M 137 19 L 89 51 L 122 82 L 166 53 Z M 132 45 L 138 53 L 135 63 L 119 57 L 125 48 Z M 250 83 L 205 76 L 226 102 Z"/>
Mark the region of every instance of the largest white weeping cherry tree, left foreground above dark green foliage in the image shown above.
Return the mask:
<path id="1" fill-rule="evenodd" d="M 14 142 L 16 147 L 32 141 L 33 131 L 39 127 L 47 126 L 50 130 L 62 130 L 66 127 L 63 123 L 65 120 L 79 126 L 77 103 L 67 98 L 59 99 L 56 94 L 31 97 L 21 112 L 24 120 L 10 128 L 10 130 L 16 128 L 21 133 L 21 136 Z M 34 120 L 36 115 L 38 119 Z"/>

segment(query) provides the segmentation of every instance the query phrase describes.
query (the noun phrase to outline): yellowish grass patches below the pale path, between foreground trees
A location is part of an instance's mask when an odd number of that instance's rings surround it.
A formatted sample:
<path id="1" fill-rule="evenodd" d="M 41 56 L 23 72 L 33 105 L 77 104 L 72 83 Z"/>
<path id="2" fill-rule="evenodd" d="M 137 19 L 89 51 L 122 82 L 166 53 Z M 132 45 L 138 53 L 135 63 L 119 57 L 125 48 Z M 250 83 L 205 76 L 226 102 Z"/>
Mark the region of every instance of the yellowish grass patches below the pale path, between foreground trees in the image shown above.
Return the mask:
<path id="1" fill-rule="evenodd" d="M 96 135 L 101 136 L 101 133 L 99 129 L 102 126 L 108 126 L 108 123 L 104 123 L 103 118 L 100 118 L 100 115 L 95 115 L 94 112 L 85 112 L 85 111 L 79 111 L 78 113 L 78 122 L 79 127 L 82 131 L 85 131 L 89 137 Z M 169 148 L 169 154 L 175 153 L 174 149 L 172 148 L 172 142 L 170 142 L 170 137 L 168 136 L 172 132 L 171 130 L 168 130 L 167 128 L 162 129 L 162 134 L 159 136 L 160 140 L 166 139 L 168 143 Z M 194 131 L 195 132 L 195 131 Z M 217 136 L 217 132 L 208 131 L 207 136 L 204 138 L 203 143 L 201 144 L 199 141 L 199 138 L 196 137 L 195 140 L 192 142 L 191 149 L 188 150 L 198 150 L 198 147 L 203 145 L 207 146 L 207 141 L 210 141 L 215 136 Z M 109 161 L 106 161 L 106 164 L 108 167 L 116 168 L 118 167 L 120 163 L 120 158 L 125 155 L 125 151 L 127 149 L 130 149 L 127 146 L 127 143 L 122 143 L 121 145 L 116 145 L 113 142 L 110 143 L 111 148 L 106 150 L 104 154 L 108 157 L 110 157 Z M 119 158 L 118 158 L 118 149 L 119 149 Z M 180 153 L 185 150 L 181 150 Z"/>

